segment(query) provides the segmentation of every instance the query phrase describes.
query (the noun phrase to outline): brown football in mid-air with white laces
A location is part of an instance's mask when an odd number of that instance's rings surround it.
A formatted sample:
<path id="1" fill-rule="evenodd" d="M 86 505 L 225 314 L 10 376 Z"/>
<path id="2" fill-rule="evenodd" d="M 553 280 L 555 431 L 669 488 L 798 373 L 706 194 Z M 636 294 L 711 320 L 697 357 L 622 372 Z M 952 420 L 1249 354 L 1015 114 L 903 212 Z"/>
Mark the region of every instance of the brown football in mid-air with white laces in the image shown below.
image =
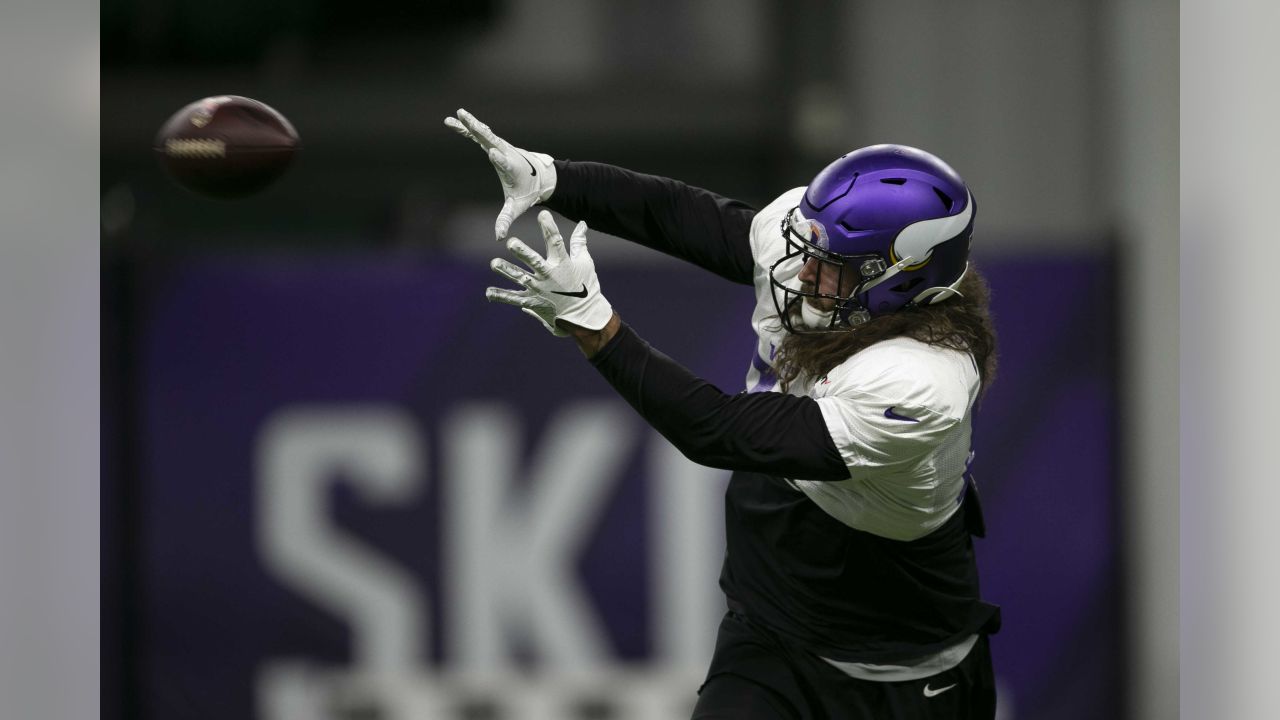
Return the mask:
<path id="1" fill-rule="evenodd" d="M 218 95 L 174 113 L 156 135 L 155 150 L 182 186 L 212 197 L 244 197 L 284 173 L 298 133 L 264 102 Z"/>

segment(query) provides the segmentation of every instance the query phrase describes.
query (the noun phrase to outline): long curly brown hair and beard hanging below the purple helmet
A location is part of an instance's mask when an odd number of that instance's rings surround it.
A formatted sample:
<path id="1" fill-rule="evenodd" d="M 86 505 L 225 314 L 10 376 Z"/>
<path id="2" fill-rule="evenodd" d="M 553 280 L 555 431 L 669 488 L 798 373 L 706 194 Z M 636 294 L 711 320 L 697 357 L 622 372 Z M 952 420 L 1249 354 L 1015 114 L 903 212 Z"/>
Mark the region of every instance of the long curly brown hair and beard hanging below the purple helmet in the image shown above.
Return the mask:
<path id="1" fill-rule="evenodd" d="M 978 366 L 982 393 L 996 379 L 996 328 L 988 307 L 991 291 L 975 266 L 956 288 L 960 297 L 937 305 L 905 307 L 846 332 L 787 334 L 773 359 L 782 389 L 799 378 L 817 379 L 877 342 L 910 337 L 937 347 L 968 352 Z"/>

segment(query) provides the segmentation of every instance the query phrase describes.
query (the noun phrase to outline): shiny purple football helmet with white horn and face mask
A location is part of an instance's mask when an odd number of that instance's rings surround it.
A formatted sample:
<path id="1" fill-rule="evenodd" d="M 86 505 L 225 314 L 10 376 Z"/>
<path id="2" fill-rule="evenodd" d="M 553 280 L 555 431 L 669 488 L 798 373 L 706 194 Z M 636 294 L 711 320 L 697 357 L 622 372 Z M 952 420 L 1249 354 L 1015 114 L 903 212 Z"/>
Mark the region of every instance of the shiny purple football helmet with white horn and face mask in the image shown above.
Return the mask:
<path id="1" fill-rule="evenodd" d="M 964 181 L 923 150 L 872 145 L 841 156 L 782 219 L 787 252 L 769 275 L 783 325 L 794 333 L 847 331 L 959 295 L 973 220 Z M 797 290 L 795 278 L 809 260 L 817 261 L 812 279 Z M 827 273 L 836 282 L 828 279 L 822 292 Z"/>

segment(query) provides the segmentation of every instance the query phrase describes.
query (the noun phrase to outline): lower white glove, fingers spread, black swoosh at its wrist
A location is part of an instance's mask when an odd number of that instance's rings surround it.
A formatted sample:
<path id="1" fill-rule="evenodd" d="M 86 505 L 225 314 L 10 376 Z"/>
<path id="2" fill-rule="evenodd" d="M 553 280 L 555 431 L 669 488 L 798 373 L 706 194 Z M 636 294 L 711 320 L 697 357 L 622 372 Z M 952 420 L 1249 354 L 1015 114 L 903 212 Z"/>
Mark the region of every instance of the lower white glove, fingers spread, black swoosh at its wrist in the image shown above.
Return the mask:
<path id="1" fill-rule="evenodd" d="M 564 333 L 556 327 L 556 320 L 564 320 L 589 331 L 598 331 L 613 316 L 613 306 L 600 295 L 600 281 L 595 277 L 595 263 L 586 251 L 586 223 L 579 223 L 568 238 L 568 251 L 564 238 L 552 214 L 543 210 L 538 214 L 538 224 L 547 240 L 544 259 L 518 238 L 507 241 L 507 250 L 520 258 L 530 270 L 495 258 L 489 266 L 495 273 L 522 286 L 513 291 L 500 287 L 485 290 L 485 297 L 493 302 L 506 302 L 522 309 L 538 318 L 556 336 Z"/>

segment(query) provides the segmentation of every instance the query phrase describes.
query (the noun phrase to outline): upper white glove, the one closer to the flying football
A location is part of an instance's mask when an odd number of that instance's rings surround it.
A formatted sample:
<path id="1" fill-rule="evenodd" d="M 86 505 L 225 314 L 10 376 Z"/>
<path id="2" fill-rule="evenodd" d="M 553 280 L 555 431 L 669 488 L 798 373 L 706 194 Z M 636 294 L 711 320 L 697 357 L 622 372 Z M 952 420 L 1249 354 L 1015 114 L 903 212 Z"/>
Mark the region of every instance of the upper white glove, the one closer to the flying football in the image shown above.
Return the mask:
<path id="1" fill-rule="evenodd" d="M 556 165 L 552 164 L 550 155 L 529 152 L 516 147 L 494 135 L 489 126 L 462 109 L 458 109 L 457 118 L 444 118 L 444 124 L 484 147 L 493 168 L 498 170 L 504 197 L 502 211 L 498 213 L 498 222 L 493 225 L 498 240 L 507 237 L 511 223 L 524 215 L 525 210 L 538 202 L 547 202 L 552 192 L 556 191 Z"/>

